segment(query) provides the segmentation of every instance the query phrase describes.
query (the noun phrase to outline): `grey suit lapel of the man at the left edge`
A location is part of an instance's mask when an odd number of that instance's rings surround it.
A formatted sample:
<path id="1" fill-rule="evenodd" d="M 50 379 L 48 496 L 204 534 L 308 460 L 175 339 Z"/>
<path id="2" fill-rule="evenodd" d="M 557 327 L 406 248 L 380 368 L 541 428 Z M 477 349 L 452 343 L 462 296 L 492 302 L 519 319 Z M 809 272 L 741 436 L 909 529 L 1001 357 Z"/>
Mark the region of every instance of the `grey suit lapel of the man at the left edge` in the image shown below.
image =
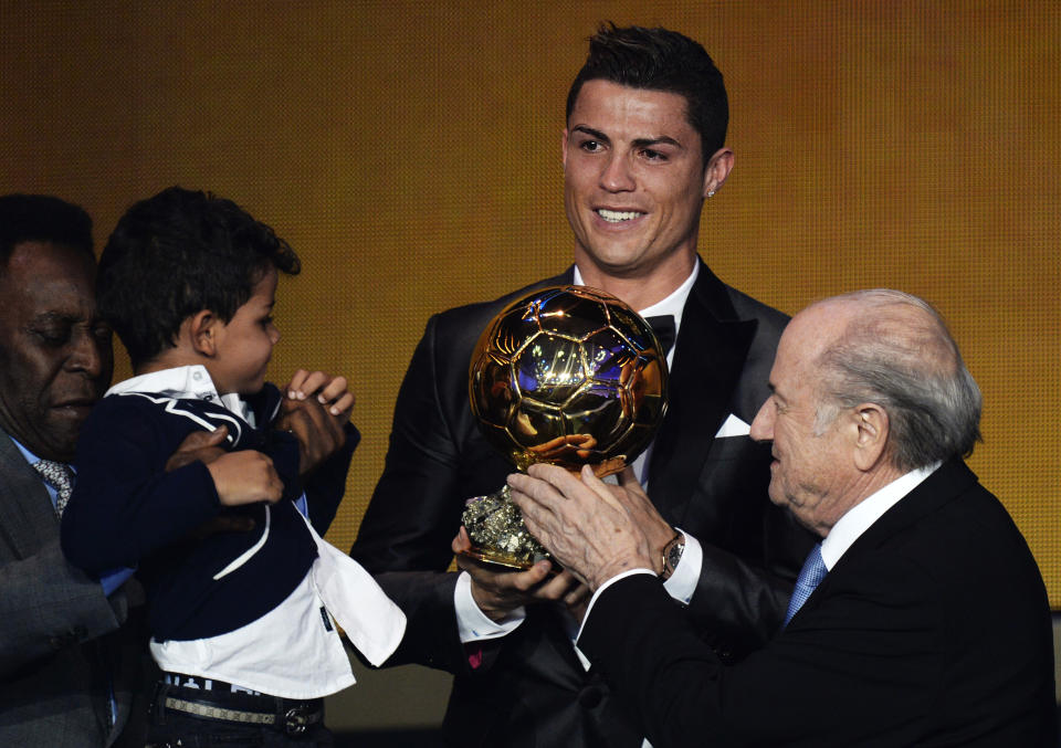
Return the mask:
<path id="1" fill-rule="evenodd" d="M 59 534 L 48 489 L 11 438 L 0 431 L 0 535 L 28 558 Z"/>

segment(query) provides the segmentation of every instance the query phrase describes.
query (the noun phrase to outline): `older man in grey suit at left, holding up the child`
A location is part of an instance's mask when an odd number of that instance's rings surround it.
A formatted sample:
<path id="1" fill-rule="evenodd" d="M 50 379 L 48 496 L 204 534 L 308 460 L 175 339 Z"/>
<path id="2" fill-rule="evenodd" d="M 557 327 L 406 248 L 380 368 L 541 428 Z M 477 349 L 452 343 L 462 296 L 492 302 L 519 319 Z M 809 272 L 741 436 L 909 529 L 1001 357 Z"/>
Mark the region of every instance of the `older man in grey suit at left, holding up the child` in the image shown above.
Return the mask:
<path id="1" fill-rule="evenodd" d="M 96 316 L 94 284 L 84 211 L 51 197 L 0 198 L 4 746 L 109 746 L 129 715 L 138 656 L 132 633 L 118 631 L 129 613 L 124 579 L 90 579 L 59 547 L 65 465 L 111 381 L 111 330 Z"/>

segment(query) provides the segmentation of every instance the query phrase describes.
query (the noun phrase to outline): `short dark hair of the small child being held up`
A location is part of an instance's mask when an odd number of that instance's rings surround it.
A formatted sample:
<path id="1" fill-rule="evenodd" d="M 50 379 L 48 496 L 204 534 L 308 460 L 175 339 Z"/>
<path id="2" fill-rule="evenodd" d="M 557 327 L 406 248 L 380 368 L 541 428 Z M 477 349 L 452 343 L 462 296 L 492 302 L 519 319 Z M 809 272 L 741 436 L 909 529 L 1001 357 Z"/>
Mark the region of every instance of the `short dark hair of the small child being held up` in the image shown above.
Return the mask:
<path id="1" fill-rule="evenodd" d="M 270 267 L 296 275 L 298 255 L 231 200 L 170 187 L 129 208 L 99 257 L 99 313 L 134 368 L 172 348 L 180 325 L 209 309 L 228 323 Z"/>

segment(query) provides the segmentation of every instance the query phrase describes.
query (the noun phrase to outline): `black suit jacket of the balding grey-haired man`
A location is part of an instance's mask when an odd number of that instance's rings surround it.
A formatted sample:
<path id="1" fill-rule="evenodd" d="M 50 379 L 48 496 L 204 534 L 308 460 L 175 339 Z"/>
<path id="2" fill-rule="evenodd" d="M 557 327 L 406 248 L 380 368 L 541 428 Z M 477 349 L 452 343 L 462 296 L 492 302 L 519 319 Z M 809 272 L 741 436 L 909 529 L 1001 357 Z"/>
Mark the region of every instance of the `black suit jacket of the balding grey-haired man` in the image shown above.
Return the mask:
<path id="1" fill-rule="evenodd" d="M 655 748 L 1057 745 L 1042 578 L 958 460 L 882 515 L 736 666 L 651 576 L 601 592 L 579 646 Z"/>

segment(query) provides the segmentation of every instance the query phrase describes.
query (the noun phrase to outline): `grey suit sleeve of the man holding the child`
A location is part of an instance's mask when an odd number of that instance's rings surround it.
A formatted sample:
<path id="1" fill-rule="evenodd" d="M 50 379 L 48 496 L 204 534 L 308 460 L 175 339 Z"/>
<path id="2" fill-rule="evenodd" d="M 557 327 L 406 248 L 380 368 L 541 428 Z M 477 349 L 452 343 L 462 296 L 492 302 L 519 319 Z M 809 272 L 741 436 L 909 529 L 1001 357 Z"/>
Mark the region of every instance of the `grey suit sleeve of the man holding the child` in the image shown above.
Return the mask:
<path id="1" fill-rule="evenodd" d="M 57 536 L 28 558 L 4 561 L 0 565 L 0 678 L 15 676 L 21 666 L 39 657 L 117 629 L 126 613 L 125 594 L 105 597 L 99 582 L 66 562 Z"/>

